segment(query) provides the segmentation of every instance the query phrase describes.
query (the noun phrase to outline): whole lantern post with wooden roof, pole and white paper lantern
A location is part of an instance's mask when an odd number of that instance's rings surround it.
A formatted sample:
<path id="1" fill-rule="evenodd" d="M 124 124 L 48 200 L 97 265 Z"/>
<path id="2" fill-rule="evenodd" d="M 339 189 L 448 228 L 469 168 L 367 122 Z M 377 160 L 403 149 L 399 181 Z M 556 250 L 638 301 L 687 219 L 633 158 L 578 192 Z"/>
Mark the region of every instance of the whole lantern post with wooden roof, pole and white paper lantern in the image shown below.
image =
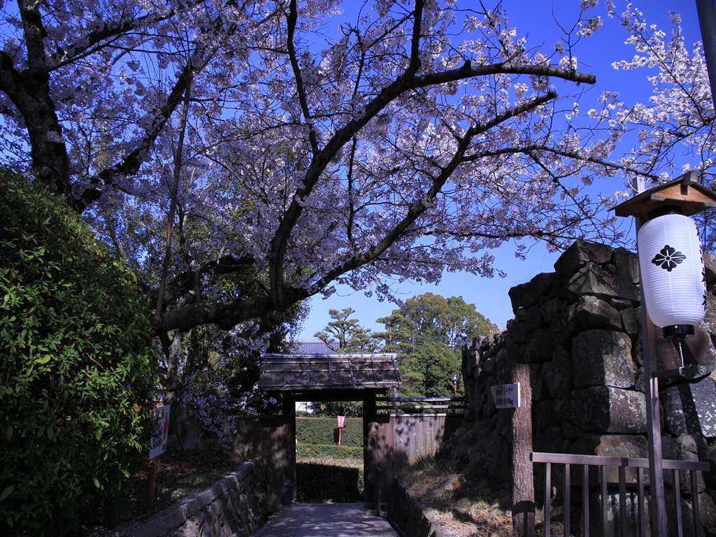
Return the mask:
<path id="1" fill-rule="evenodd" d="M 642 352 L 647 397 L 647 436 L 651 483 L 652 531 L 667 537 L 664 501 L 659 377 L 682 375 L 684 364 L 657 371 L 655 329 L 672 337 L 679 349 L 704 318 L 706 282 L 700 239 L 689 216 L 716 207 L 716 193 L 697 183 L 696 173 L 637 194 L 614 208 L 616 216 L 633 216 L 637 227 L 639 278 L 642 294 Z M 667 374 L 664 374 L 667 373 Z"/>

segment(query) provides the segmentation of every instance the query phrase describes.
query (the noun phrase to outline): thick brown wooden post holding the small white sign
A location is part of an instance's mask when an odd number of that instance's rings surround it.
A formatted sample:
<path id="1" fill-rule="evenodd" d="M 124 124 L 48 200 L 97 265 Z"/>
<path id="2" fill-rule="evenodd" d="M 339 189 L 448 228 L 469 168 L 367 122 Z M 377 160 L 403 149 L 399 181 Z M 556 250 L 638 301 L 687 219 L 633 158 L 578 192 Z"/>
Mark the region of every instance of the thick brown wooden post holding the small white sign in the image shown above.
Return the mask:
<path id="1" fill-rule="evenodd" d="M 535 534 L 532 473 L 532 387 L 528 364 L 513 364 L 512 382 L 520 383 L 520 406 L 512 415 L 512 528 L 516 537 Z M 545 502 L 548 498 L 545 498 Z M 547 523 L 547 521 L 545 521 Z"/>

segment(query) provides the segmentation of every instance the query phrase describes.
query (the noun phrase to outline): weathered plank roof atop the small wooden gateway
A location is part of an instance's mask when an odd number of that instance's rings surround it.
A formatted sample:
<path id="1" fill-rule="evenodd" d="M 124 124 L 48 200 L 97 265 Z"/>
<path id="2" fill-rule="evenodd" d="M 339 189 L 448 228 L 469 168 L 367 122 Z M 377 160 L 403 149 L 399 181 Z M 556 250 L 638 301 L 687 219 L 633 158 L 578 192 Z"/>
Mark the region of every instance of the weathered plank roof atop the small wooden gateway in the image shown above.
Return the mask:
<path id="1" fill-rule="evenodd" d="M 402 384 L 396 354 L 263 354 L 258 387 L 267 392 L 372 390 Z"/>

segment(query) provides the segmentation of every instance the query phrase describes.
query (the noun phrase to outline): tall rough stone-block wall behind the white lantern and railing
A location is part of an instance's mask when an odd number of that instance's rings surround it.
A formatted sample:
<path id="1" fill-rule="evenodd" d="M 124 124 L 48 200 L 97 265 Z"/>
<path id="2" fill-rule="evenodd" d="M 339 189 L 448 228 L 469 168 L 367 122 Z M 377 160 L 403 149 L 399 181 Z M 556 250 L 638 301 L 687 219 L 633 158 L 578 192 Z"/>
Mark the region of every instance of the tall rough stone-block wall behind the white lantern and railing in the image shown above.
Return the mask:
<path id="1" fill-rule="evenodd" d="M 637 258 L 621 248 L 578 241 L 554 268 L 510 290 L 515 318 L 504 332 L 475 339 L 463 349 L 471 425 L 462 436 L 473 440 L 461 444 L 458 435 L 442 454 L 468 461 L 470 450 L 473 455 L 480 453 L 485 462 L 475 471 L 500 483 L 511 473 L 510 412 L 495 410 L 490 387 L 511 382 L 512 361 L 530 366 L 535 451 L 647 457 Z M 712 468 L 716 463 L 716 375 L 710 374 L 716 362 L 715 281 L 710 258 L 709 316 L 683 349 L 684 364 L 700 364 L 701 374 L 662 381 L 659 394 L 664 458 L 710 460 Z M 657 354 L 657 369 L 678 367 L 678 349 L 671 340 L 659 337 Z M 627 478 L 635 480 L 634 475 Z M 561 483 L 558 473 L 553 479 L 556 485 Z M 617 481 L 614 469 L 609 482 Z M 690 494 L 682 480 L 684 487 Z M 536 489 L 541 487 L 536 484 Z M 699 493 L 702 521 L 716 533 L 715 472 L 700 479 Z M 684 508 L 684 520 L 690 520 L 690 504 Z"/>

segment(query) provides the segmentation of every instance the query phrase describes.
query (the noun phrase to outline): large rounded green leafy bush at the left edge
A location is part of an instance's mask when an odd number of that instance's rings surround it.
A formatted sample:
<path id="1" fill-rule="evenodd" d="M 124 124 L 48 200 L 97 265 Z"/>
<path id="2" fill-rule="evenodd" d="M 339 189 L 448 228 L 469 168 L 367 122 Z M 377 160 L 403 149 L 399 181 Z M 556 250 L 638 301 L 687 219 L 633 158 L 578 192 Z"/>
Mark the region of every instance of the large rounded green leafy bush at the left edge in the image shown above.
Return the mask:
<path id="1" fill-rule="evenodd" d="M 107 516 L 147 456 L 152 330 L 63 200 L 0 173 L 0 219 L 0 533 L 62 535 Z"/>

